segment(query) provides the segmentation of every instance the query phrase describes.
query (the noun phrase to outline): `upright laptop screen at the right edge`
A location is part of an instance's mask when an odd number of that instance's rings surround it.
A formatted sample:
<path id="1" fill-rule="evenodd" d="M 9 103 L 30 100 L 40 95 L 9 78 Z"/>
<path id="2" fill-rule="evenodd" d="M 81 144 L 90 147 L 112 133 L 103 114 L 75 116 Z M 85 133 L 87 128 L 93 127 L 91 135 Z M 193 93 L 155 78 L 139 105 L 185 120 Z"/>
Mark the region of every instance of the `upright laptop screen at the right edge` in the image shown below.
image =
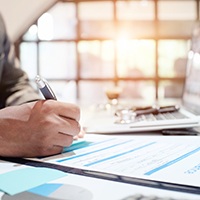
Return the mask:
<path id="1" fill-rule="evenodd" d="M 195 114 L 200 114 L 200 24 L 194 28 L 192 33 L 183 91 L 183 105 Z"/>

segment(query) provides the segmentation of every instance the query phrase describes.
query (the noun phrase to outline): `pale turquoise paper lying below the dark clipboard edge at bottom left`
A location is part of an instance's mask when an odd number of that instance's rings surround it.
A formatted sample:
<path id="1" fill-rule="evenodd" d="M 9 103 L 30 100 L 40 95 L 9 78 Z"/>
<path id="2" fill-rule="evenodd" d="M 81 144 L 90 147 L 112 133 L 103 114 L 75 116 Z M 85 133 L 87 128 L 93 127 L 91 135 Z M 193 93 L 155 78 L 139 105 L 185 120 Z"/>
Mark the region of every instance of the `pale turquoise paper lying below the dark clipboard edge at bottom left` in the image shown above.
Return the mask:
<path id="1" fill-rule="evenodd" d="M 66 176 L 66 173 L 48 169 L 20 166 L 0 161 L 0 191 L 15 195 L 46 182 Z"/>

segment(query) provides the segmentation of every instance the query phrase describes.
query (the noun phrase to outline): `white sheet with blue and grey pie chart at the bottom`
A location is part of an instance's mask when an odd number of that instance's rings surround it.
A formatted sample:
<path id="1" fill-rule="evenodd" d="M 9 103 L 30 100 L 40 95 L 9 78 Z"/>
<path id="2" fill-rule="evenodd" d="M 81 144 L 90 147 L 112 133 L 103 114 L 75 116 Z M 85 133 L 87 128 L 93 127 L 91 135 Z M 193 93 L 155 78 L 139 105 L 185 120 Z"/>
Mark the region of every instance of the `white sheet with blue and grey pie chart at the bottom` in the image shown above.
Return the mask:
<path id="1" fill-rule="evenodd" d="M 200 195 L 198 194 L 162 190 L 159 188 L 67 174 L 67 176 L 12 196 L 0 192 L 0 200 L 122 200 L 132 195 L 138 196 L 138 194 L 157 196 L 168 200 L 172 198 L 185 200 L 200 199 Z"/>

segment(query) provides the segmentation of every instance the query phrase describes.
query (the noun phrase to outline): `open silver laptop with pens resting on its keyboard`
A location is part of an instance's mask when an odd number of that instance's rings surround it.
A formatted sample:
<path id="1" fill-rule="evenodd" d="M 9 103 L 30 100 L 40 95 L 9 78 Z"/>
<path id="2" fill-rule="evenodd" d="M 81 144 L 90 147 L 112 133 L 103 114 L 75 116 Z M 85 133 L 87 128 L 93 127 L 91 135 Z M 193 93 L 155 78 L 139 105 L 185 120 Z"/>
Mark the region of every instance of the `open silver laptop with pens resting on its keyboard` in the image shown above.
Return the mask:
<path id="1" fill-rule="evenodd" d="M 144 132 L 198 127 L 200 125 L 200 25 L 192 33 L 186 79 L 180 105 L 94 112 L 83 126 L 87 133 Z M 167 111 L 166 111 L 167 109 Z M 156 113 L 155 113 L 156 111 Z M 145 113 L 146 112 L 146 113 Z M 117 115 L 117 116 L 116 116 Z"/>

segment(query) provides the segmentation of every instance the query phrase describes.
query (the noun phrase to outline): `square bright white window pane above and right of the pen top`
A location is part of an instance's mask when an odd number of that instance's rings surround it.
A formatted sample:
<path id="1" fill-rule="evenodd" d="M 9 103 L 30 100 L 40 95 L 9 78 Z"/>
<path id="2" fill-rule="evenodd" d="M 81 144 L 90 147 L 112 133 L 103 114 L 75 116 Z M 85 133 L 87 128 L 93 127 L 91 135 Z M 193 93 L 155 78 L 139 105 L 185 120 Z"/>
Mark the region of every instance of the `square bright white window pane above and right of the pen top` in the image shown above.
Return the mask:
<path id="1" fill-rule="evenodd" d="M 46 78 L 76 77 L 76 46 L 73 42 L 41 42 L 39 44 L 40 74 Z"/>

